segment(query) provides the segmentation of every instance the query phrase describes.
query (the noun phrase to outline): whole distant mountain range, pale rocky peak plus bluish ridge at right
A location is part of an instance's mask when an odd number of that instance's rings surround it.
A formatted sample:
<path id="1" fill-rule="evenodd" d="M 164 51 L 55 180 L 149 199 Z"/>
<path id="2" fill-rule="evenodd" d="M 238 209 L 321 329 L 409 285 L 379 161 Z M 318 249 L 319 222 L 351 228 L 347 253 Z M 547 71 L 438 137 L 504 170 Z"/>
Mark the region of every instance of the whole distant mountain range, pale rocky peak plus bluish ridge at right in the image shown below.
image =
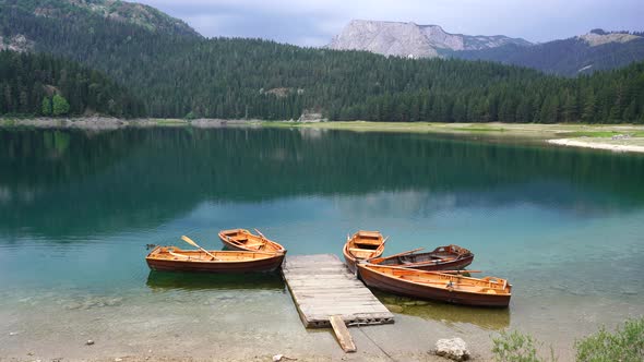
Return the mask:
<path id="1" fill-rule="evenodd" d="M 438 25 L 351 21 L 326 46 L 407 58 L 460 58 L 528 67 L 545 73 L 575 76 L 644 60 L 642 33 L 605 32 L 532 44 L 503 35 L 450 34 Z"/>

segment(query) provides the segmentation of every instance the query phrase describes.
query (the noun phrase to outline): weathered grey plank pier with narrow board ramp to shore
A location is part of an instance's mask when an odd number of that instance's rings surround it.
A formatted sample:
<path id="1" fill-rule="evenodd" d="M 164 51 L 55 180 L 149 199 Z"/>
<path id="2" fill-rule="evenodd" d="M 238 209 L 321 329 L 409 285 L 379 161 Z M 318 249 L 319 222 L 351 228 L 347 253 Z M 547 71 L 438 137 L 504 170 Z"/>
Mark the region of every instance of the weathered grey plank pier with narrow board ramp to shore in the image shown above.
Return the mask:
<path id="1" fill-rule="evenodd" d="M 345 325 L 394 323 L 394 315 L 336 255 L 286 256 L 282 274 L 305 326 L 333 327 L 345 351 L 353 345 Z"/>

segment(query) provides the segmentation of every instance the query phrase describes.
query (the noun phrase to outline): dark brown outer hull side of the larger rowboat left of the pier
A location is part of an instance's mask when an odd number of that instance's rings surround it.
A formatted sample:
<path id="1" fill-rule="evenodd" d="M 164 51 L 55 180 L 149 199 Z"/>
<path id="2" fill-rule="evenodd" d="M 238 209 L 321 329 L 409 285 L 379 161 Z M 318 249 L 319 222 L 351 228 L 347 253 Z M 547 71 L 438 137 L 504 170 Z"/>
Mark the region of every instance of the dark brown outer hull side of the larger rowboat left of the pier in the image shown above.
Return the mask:
<path id="1" fill-rule="evenodd" d="M 166 272 L 196 272 L 196 273 L 259 273 L 274 272 L 282 266 L 285 254 L 276 254 L 272 257 L 239 261 L 239 262 L 200 262 L 200 261 L 174 261 L 147 257 L 147 266 L 153 270 Z"/>

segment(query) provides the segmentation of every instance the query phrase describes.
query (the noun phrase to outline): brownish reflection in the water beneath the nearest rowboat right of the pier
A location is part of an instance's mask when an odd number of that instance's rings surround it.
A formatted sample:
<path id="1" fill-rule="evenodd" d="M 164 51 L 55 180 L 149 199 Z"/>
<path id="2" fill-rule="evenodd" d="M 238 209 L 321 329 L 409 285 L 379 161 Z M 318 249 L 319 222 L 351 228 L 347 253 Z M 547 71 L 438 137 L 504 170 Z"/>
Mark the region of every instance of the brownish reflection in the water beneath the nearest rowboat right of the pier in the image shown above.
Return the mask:
<path id="1" fill-rule="evenodd" d="M 481 309 L 466 305 L 420 301 L 374 290 L 375 297 L 392 312 L 448 324 L 468 323 L 485 329 L 500 330 L 510 326 L 510 307 Z"/>

